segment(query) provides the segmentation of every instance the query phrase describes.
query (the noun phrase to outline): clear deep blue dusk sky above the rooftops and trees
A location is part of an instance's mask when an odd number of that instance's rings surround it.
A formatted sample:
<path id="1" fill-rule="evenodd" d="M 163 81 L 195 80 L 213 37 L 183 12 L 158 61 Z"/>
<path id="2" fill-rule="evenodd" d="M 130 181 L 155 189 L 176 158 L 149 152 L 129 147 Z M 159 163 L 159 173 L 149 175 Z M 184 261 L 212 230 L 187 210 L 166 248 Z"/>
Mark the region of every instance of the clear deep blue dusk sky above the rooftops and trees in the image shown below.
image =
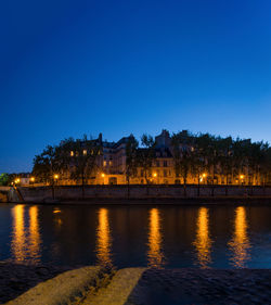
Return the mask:
<path id="1" fill-rule="evenodd" d="M 2 2 L 0 173 L 100 131 L 271 142 L 270 0 Z"/>

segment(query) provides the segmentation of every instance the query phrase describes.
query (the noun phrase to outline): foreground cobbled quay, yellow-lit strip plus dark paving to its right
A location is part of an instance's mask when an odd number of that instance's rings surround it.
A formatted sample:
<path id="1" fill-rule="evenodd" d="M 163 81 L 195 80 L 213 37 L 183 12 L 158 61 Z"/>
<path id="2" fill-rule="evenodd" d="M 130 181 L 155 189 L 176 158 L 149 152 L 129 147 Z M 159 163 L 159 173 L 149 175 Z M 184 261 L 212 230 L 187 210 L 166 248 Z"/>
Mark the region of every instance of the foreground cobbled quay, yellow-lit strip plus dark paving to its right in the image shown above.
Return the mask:
<path id="1" fill-rule="evenodd" d="M 271 270 L 125 268 L 116 271 L 90 266 L 66 271 L 7 304 L 271 304 Z"/>

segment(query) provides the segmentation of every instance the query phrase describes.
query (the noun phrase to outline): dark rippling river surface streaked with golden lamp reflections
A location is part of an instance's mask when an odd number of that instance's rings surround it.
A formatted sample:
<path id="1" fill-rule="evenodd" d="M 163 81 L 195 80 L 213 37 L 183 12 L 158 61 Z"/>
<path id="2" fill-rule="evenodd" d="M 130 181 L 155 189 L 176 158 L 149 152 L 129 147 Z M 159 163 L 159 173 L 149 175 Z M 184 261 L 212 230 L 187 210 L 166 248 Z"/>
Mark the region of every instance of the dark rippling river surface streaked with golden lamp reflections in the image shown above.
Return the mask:
<path id="1" fill-rule="evenodd" d="M 271 268 L 271 207 L 0 205 L 0 259 Z"/>

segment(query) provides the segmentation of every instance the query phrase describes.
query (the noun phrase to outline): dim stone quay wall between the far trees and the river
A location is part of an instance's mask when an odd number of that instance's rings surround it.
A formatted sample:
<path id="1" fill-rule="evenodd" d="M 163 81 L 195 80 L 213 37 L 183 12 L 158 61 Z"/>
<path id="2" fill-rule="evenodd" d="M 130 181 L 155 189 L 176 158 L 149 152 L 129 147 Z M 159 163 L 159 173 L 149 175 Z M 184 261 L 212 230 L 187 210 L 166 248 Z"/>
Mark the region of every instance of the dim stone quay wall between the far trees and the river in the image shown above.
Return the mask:
<path id="1" fill-rule="evenodd" d="M 83 198 L 87 199 L 128 199 L 127 186 L 85 186 Z M 21 187 L 21 194 L 26 202 L 44 202 L 52 199 L 51 187 Z M 82 199 L 80 186 L 54 187 L 54 196 L 61 201 L 73 201 Z M 198 198 L 270 198 L 271 187 L 249 186 L 130 186 L 129 199 L 198 199 Z"/>

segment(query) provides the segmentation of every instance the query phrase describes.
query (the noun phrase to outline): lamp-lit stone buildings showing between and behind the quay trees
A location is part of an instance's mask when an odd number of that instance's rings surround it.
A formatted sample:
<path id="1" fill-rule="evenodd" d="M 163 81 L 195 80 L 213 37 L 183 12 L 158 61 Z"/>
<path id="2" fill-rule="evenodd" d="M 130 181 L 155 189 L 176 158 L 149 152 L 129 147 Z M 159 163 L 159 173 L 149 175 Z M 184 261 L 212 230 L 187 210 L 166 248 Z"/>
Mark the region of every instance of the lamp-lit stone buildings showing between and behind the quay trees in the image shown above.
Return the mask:
<path id="1" fill-rule="evenodd" d="M 188 135 L 186 130 L 183 130 L 182 134 Z M 117 142 L 108 142 L 104 141 L 102 134 L 99 135 L 99 138 L 94 141 L 99 144 L 100 152 L 96 156 L 95 163 L 96 168 L 95 171 L 92 173 L 89 177 L 86 178 L 87 185 L 126 185 L 126 145 L 127 142 L 133 137 L 132 135 L 129 137 L 124 137 Z M 185 152 L 193 152 L 194 147 L 192 143 L 180 142 L 179 149 L 181 154 L 185 154 Z M 81 150 L 83 153 L 89 153 L 86 150 L 86 143 L 81 143 Z M 138 152 L 144 151 L 144 148 L 139 148 Z M 167 130 L 162 130 L 162 134 L 155 137 L 155 157 L 152 161 L 151 168 L 144 171 L 140 165 L 137 167 L 137 175 L 130 177 L 130 183 L 137 185 L 145 185 L 145 183 L 158 183 L 158 185 L 180 185 L 183 183 L 184 178 L 180 173 L 177 174 L 177 166 L 175 160 L 175 147 L 172 144 L 172 137 L 170 137 Z M 70 151 L 70 155 L 75 152 Z M 181 162 L 183 162 L 181 160 Z M 209 171 L 201 171 L 197 175 L 188 173 L 186 183 L 215 183 L 215 185 L 241 185 L 241 183 L 251 183 L 259 185 L 259 182 L 254 182 L 250 180 L 249 173 L 247 167 L 244 166 L 242 170 L 242 175 L 232 174 L 225 175 L 223 174 L 220 164 L 216 164 L 216 166 L 209 166 Z M 59 180 L 60 185 L 76 185 L 78 181 L 74 181 L 69 177 L 69 173 L 63 173 Z M 228 181 L 227 181 L 228 179 Z"/>

